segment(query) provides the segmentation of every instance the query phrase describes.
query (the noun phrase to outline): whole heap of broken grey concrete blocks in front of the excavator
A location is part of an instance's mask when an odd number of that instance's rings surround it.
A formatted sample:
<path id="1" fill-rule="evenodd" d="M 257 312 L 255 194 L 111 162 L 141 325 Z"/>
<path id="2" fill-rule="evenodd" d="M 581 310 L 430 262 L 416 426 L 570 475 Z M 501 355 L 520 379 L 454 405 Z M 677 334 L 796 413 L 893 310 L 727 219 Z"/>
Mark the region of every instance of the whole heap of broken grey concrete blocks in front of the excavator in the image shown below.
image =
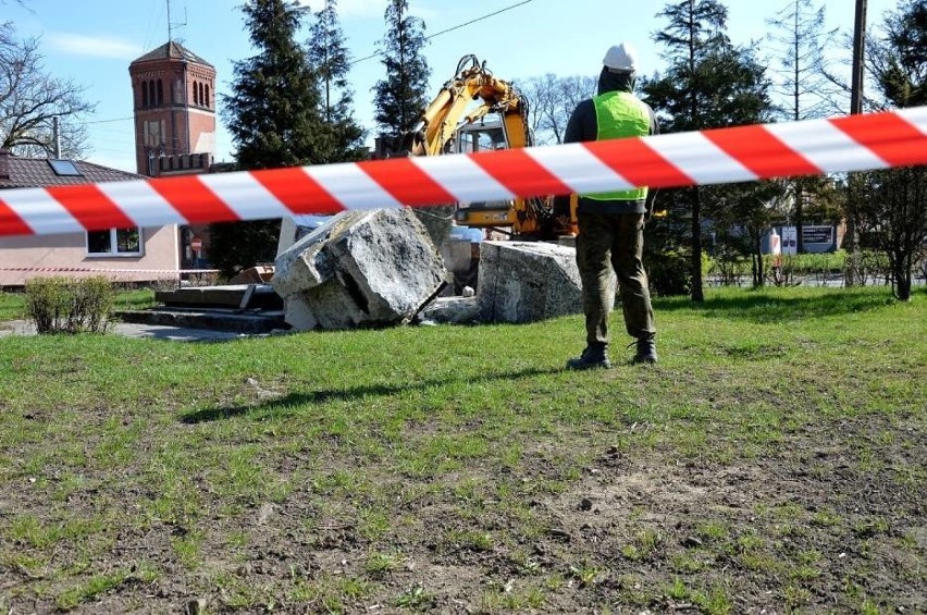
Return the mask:
<path id="1" fill-rule="evenodd" d="M 522 323 L 582 312 L 572 247 L 465 241 L 438 251 L 409 209 L 346 211 L 287 234 L 295 243 L 281 244 L 271 284 L 298 331 L 412 320 Z"/>

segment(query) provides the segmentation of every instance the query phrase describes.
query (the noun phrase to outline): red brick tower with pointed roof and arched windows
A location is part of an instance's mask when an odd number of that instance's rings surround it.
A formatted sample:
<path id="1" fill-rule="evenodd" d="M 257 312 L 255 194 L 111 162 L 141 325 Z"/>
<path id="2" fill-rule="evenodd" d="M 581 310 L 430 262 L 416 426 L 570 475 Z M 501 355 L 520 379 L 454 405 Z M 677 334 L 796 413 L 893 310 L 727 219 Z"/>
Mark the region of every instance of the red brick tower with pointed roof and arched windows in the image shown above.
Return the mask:
<path id="1" fill-rule="evenodd" d="M 205 173 L 215 156 L 215 69 L 169 40 L 128 65 L 135 161 L 148 176 Z"/>

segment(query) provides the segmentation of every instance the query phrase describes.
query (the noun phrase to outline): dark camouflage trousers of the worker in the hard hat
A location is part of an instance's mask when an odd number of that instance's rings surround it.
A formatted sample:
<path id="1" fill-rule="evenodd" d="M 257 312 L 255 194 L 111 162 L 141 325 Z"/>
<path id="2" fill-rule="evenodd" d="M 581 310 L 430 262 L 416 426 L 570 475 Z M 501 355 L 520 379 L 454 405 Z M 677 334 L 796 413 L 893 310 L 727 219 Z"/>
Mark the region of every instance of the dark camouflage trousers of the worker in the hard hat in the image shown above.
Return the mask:
<path id="1" fill-rule="evenodd" d="M 644 249 L 643 213 L 579 213 L 577 266 L 582 280 L 586 344 L 608 343 L 608 316 L 615 305 L 611 272 L 618 278 L 618 296 L 625 329 L 636 339 L 656 335 Z"/>

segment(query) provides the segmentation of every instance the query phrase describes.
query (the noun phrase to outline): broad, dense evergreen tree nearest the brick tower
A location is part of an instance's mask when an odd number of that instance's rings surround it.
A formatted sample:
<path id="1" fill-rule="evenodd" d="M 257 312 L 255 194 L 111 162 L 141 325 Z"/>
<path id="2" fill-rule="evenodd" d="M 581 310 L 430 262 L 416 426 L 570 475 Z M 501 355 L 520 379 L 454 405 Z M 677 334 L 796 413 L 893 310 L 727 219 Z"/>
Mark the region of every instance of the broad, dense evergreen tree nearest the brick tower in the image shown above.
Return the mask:
<path id="1" fill-rule="evenodd" d="M 330 161 L 331 131 L 319 114 L 317 75 L 296 42 L 305 10 L 287 0 L 249 0 L 243 10 L 258 53 L 235 62 L 232 94 L 223 97 L 238 168 Z M 232 275 L 273 262 L 279 235 L 280 220 L 212 224 L 212 263 Z"/>

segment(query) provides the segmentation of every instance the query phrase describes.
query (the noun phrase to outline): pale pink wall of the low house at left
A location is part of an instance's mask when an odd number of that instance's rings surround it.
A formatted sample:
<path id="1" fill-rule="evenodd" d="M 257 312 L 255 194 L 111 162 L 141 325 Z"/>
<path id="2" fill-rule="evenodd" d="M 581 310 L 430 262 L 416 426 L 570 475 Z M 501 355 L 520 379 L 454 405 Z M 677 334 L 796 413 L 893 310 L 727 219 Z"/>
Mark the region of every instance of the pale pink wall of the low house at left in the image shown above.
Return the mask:
<path id="1" fill-rule="evenodd" d="M 141 234 L 143 256 L 88 256 L 85 233 L 0 238 L 0 287 L 23 286 L 37 275 L 104 275 L 114 282 L 177 280 L 177 226 L 143 229 Z M 12 271 L 17 268 L 29 271 Z"/>

